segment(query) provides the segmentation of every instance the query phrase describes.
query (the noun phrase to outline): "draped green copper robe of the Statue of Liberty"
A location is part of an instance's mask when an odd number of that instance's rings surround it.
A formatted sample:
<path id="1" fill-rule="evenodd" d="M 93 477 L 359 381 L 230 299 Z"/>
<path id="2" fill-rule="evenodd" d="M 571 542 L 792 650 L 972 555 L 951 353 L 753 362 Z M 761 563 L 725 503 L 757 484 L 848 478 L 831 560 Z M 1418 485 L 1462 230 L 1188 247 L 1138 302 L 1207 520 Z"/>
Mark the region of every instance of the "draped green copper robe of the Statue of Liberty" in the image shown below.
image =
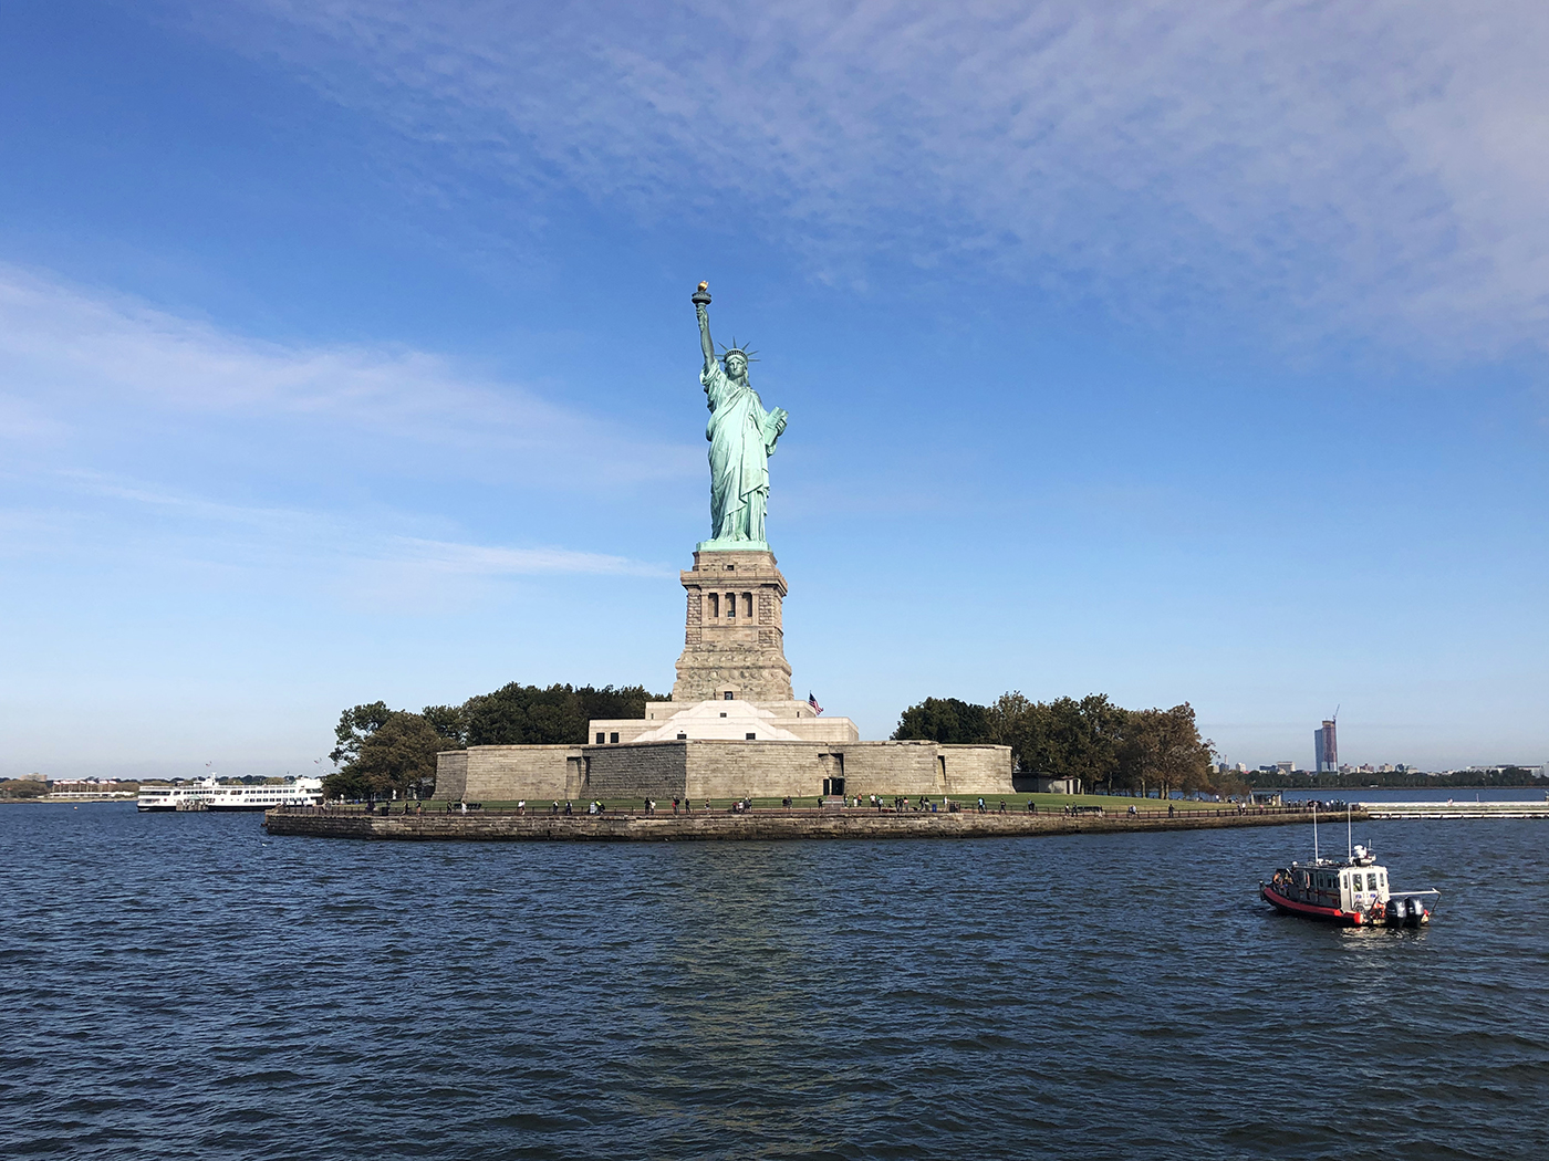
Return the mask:
<path id="1" fill-rule="evenodd" d="M 759 393 L 711 362 L 699 373 L 709 402 L 709 523 L 716 540 L 764 540 L 774 421 Z"/>

